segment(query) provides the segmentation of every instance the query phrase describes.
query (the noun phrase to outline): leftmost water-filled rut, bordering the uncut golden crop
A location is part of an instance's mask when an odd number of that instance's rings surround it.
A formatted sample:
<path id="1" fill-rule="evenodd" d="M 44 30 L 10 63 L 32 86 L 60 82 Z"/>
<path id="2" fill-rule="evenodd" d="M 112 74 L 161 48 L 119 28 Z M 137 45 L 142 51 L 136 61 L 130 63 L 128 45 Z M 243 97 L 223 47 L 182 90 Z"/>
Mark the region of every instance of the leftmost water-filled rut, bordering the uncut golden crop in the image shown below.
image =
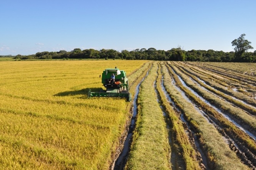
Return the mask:
<path id="1" fill-rule="evenodd" d="M 133 109 L 132 109 L 133 114 L 132 114 L 132 118 L 131 118 L 131 124 L 130 124 L 129 129 L 128 129 L 128 134 L 127 134 L 125 142 L 124 142 L 123 150 L 119 154 L 115 163 L 113 164 L 113 167 L 111 168 L 112 170 L 124 169 L 124 166 L 126 164 L 128 154 L 129 154 L 129 148 L 130 148 L 130 144 L 131 144 L 131 137 L 132 137 L 132 134 L 133 134 L 135 123 L 136 123 L 135 118 L 136 118 L 136 115 L 137 115 L 137 98 L 138 98 L 138 94 L 139 94 L 139 88 L 141 86 L 141 83 L 148 76 L 149 71 L 150 71 L 150 69 L 148 70 L 146 76 L 144 76 L 143 79 L 141 80 L 141 82 L 136 86 L 136 92 L 135 92 L 135 96 L 134 96 L 134 99 L 133 99 Z"/>

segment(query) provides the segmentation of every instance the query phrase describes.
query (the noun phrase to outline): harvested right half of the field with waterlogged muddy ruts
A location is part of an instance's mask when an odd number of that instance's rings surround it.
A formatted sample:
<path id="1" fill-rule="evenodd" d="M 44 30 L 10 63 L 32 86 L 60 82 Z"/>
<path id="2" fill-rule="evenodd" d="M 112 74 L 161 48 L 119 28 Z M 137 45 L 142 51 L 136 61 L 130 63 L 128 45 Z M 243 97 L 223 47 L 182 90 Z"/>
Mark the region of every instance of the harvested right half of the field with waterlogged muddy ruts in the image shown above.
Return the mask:
<path id="1" fill-rule="evenodd" d="M 230 85 L 234 83 L 242 84 L 247 91 L 253 92 L 253 81 L 248 82 L 253 78 L 246 79 L 246 86 L 242 79 L 234 78 L 235 74 L 220 74 L 215 71 L 217 66 L 208 69 L 200 64 L 197 66 L 193 62 L 158 62 L 158 69 L 153 67 L 150 71 L 146 86 L 141 86 L 138 122 L 125 169 L 168 168 L 164 163 L 159 167 L 157 163 L 160 161 L 152 161 L 154 156 L 150 154 L 150 150 L 155 149 L 157 155 L 160 145 L 156 147 L 143 142 L 150 141 L 155 133 L 159 133 L 158 137 L 166 133 L 160 127 L 157 131 L 152 130 L 157 127 L 156 124 L 160 125 L 154 118 L 156 115 L 164 118 L 168 130 L 168 138 L 160 138 L 169 139 L 169 157 L 163 152 L 160 153 L 163 160 L 166 157 L 169 159 L 169 169 L 255 169 L 256 121 L 255 107 L 252 104 L 252 101 L 255 102 L 255 94 L 248 96 L 244 91 L 227 93 L 232 88 Z M 239 75 L 241 72 L 236 70 L 236 75 L 243 77 Z M 219 90 L 212 84 L 225 86 L 223 90 Z M 158 105 L 153 104 L 155 102 Z M 159 108 L 162 109 L 162 115 Z M 150 126 L 148 119 L 151 120 Z M 146 135 L 147 129 L 151 129 L 150 135 Z M 146 148 L 148 152 L 142 148 Z"/>

